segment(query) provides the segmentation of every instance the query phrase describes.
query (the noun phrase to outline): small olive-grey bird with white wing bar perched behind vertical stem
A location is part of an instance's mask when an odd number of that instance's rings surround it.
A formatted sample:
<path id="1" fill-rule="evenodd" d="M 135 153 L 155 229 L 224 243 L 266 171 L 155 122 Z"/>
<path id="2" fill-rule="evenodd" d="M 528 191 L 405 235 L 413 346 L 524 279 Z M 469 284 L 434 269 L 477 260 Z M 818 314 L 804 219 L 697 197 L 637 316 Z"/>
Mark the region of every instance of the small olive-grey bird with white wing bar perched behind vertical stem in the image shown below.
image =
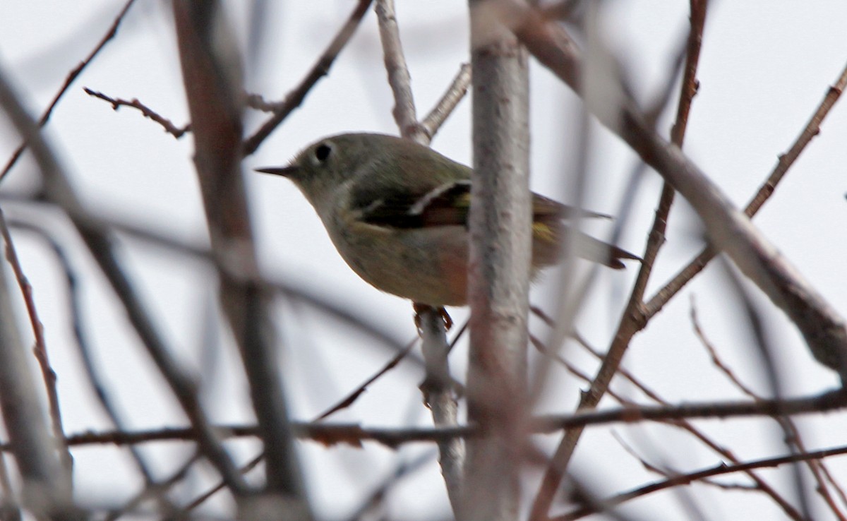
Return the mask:
<path id="1" fill-rule="evenodd" d="M 342 134 L 289 166 L 257 169 L 294 181 L 347 264 L 370 285 L 430 306 L 462 306 L 468 291 L 471 169 L 414 141 Z M 562 256 L 574 214 L 533 194 L 533 274 Z M 586 216 L 598 213 L 581 212 Z M 614 269 L 632 253 L 577 232 L 576 254 Z"/>

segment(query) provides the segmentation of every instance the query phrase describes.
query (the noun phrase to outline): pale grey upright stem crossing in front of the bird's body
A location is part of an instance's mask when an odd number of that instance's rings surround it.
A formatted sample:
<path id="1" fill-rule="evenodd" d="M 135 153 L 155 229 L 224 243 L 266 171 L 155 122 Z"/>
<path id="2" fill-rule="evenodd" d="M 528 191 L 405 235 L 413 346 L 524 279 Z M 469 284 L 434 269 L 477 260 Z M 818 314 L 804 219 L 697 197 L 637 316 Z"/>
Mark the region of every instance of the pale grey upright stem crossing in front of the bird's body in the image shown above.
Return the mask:
<path id="1" fill-rule="evenodd" d="M 515 519 L 528 341 L 532 213 L 528 54 L 495 22 L 494 3 L 471 0 L 473 181 L 468 442 L 462 518 Z"/>

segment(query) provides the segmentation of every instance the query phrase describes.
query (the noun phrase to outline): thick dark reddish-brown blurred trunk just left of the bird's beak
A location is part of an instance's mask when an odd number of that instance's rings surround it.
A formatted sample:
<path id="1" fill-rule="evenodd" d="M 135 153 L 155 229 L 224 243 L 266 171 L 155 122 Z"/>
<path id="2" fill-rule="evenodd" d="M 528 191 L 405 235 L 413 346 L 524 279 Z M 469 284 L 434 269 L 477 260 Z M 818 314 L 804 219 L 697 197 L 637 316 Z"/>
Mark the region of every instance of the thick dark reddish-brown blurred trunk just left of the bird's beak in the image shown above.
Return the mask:
<path id="1" fill-rule="evenodd" d="M 267 458 L 268 499 L 309 518 L 241 177 L 241 64 L 219 3 L 174 2 L 180 63 L 194 130 L 197 176 L 220 280 L 220 299 L 241 351 Z M 262 503 L 242 504 L 251 510 Z M 253 512 L 258 513 L 259 511 Z"/>

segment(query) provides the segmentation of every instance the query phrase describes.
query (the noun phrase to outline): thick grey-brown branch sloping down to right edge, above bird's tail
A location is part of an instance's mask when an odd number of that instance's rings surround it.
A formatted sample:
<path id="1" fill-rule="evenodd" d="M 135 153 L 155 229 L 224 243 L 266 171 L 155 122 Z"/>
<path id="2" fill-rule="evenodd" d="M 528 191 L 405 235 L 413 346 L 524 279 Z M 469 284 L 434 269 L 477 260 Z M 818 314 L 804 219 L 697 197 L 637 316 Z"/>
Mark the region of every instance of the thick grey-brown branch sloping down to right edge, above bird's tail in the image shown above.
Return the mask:
<path id="1" fill-rule="evenodd" d="M 557 25 L 545 24 L 532 10 L 517 3 L 511 5 L 519 9 L 522 20 L 515 34 L 542 64 L 579 92 L 581 61 L 567 33 Z M 678 147 L 651 130 L 634 103 L 624 103 L 614 121 L 601 119 L 601 123 L 622 137 L 683 194 L 705 224 L 712 243 L 726 252 L 741 272 L 788 315 L 817 361 L 838 371 L 842 380 L 847 380 L 844 318 L 756 230 L 749 217 L 739 212 Z"/>

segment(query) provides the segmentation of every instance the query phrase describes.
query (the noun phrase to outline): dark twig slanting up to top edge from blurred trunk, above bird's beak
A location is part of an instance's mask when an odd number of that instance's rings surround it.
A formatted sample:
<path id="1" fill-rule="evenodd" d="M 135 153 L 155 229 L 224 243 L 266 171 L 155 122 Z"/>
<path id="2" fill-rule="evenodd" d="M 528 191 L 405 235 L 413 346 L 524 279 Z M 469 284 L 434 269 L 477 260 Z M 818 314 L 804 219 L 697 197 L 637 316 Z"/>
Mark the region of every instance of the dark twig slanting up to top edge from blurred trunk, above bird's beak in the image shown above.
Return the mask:
<path id="1" fill-rule="evenodd" d="M 276 129 L 276 127 L 288 117 L 288 114 L 291 114 L 291 111 L 303 103 L 306 95 L 312 87 L 318 83 L 318 80 L 329 73 L 329 67 L 332 66 L 333 62 L 335 62 L 335 58 L 338 57 L 341 49 L 343 49 L 347 42 L 350 41 L 353 33 L 356 32 L 359 22 L 362 21 L 365 13 L 368 12 L 371 2 L 372 0 L 359 0 L 356 8 L 353 9 L 353 12 L 350 14 L 346 23 L 341 27 L 341 30 L 338 31 L 338 34 L 335 35 L 332 42 L 329 43 L 329 47 L 327 47 L 324 53 L 321 54 L 320 58 L 318 58 L 318 62 L 314 64 L 306 77 L 300 82 L 300 85 L 296 86 L 296 88 L 285 97 L 285 101 L 280 105 L 280 108 L 275 111 L 274 115 L 271 116 L 259 128 L 259 130 L 244 141 L 243 153 L 245 156 L 249 156 L 253 152 L 256 152 L 259 145 L 262 144 L 262 141 L 270 136 L 270 133 L 273 132 L 274 129 Z"/>

